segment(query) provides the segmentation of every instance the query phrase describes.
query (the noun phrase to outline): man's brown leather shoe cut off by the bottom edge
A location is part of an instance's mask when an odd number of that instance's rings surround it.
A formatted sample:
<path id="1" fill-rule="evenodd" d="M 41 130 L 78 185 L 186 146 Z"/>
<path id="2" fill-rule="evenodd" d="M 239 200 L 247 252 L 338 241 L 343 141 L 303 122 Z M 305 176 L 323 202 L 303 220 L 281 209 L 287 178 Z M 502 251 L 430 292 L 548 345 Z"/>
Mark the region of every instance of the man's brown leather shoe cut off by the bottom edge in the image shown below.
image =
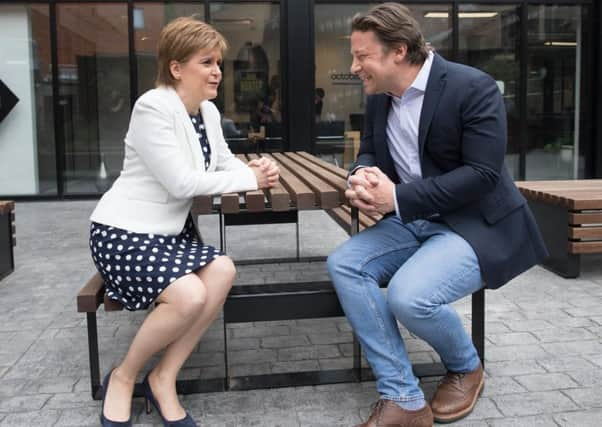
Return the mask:
<path id="1" fill-rule="evenodd" d="M 380 399 L 370 418 L 355 427 L 432 427 L 433 413 L 428 403 L 417 411 L 408 411 L 391 400 Z"/>

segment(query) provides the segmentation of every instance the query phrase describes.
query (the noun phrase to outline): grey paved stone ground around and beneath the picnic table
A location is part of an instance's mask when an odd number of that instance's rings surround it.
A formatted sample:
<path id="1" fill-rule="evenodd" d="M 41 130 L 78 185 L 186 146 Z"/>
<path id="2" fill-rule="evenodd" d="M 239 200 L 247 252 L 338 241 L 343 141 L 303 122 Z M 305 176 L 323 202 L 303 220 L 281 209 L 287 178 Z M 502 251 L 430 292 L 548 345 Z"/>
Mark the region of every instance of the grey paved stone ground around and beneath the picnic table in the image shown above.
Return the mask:
<path id="1" fill-rule="evenodd" d="M 75 295 L 94 271 L 87 249 L 93 206 L 17 204 L 17 267 L 0 282 L 0 426 L 98 424 L 85 318 L 75 311 Z M 205 239 L 215 243 L 217 219 L 203 217 L 201 223 Z M 320 212 L 302 216 L 301 235 L 302 255 L 326 255 L 346 238 Z M 294 226 L 230 228 L 228 244 L 234 258 L 292 256 Z M 245 283 L 323 277 L 321 263 L 239 269 Z M 486 387 L 473 414 L 455 425 L 602 425 L 602 257 L 587 257 L 574 280 L 535 267 L 486 299 Z M 456 307 L 468 327 L 469 301 Z M 143 319 L 144 313 L 99 312 L 102 372 L 122 357 Z M 223 375 L 222 327 L 216 321 L 182 377 Z M 227 332 L 234 375 L 351 364 L 351 333 L 343 318 L 237 324 Z M 428 345 L 402 333 L 414 361 L 438 360 Z M 436 381 L 423 382 L 427 396 Z M 196 394 L 183 401 L 204 426 L 342 427 L 364 419 L 376 398 L 374 383 L 366 382 Z M 140 399 L 133 419 L 139 426 L 160 425 L 156 414 L 144 413 Z"/>

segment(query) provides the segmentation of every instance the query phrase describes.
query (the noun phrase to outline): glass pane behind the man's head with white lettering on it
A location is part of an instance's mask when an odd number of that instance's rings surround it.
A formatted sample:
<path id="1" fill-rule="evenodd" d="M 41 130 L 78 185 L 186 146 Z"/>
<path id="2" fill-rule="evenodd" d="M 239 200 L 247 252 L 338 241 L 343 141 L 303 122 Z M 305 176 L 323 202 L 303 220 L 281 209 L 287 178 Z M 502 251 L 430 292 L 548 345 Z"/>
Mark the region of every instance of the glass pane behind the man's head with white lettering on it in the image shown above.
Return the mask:
<path id="1" fill-rule="evenodd" d="M 365 94 L 351 74 L 349 35 L 353 16 L 376 3 L 328 4 L 315 7 L 316 144 L 315 153 L 347 167 L 355 160 L 362 128 Z M 451 7 L 407 5 L 426 40 L 438 53 L 451 51 Z"/>

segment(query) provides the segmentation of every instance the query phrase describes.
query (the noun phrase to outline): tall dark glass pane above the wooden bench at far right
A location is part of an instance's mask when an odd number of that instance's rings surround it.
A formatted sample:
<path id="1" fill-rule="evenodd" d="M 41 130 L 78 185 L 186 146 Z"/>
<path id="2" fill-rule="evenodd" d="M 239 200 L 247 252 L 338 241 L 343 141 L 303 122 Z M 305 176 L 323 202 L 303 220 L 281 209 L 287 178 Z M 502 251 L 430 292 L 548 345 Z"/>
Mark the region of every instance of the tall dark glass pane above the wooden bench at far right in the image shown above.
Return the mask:
<path id="1" fill-rule="evenodd" d="M 529 6 L 527 179 L 583 176 L 581 6 Z"/>

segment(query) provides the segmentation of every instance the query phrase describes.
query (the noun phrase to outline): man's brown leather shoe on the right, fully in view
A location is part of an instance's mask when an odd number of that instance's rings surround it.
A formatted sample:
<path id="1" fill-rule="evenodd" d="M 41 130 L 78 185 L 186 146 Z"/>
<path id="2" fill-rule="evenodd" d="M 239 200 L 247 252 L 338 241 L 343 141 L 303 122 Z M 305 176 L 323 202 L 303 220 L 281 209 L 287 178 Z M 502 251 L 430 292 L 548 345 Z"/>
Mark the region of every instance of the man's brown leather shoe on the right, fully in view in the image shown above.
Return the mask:
<path id="1" fill-rule="evenodd" d="M 448 372 L 439 382 L 431 401 L 435 421 L 451 423 L 470 414 L 484 384 L 481 364 L 472 372 Z"/>

